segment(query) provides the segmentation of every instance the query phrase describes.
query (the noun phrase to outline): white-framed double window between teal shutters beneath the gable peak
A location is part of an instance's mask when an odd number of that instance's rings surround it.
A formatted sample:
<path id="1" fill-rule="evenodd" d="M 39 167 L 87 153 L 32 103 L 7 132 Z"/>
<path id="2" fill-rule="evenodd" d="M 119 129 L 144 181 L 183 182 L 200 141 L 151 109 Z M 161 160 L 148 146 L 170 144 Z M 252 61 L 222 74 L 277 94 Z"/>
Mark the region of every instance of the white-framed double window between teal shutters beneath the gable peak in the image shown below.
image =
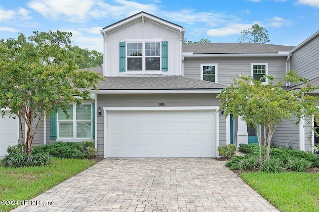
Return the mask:
<path id="1" fill-rule="evenodd" d="M 126 70 L 131 72 L 150 72 L 161 70 L 161 42 L 127 42 Z"/>

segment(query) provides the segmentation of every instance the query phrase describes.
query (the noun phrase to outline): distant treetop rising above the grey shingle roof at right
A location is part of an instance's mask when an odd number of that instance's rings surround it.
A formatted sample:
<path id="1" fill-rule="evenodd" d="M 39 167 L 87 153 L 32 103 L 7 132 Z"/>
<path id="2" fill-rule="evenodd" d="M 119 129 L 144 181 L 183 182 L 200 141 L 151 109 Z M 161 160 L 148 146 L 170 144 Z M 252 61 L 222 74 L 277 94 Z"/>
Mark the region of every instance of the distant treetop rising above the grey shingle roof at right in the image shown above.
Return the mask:
<path id="1" fill-rule="evenodd" d="M 240 32 L 242 36 L 238 39 L 239 43 L 267 43 L 270 42 L 267 29 L 254 24 L 251 28 Z"/>

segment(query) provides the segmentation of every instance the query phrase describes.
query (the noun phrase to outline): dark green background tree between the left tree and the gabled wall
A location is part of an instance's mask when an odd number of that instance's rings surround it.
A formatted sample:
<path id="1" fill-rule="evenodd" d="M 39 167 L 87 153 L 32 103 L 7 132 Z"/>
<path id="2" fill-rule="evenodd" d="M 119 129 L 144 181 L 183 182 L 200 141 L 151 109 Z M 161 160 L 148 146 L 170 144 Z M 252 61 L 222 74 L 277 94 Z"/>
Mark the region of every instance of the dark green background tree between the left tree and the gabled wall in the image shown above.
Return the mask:
<path id="1" fill-rule="evenodd" d="M 75 54 L 75 62 L 79 69 L 101 66 L 103 64 L 103 54 L 88 49 L 81 49 L 79 46 L 73 46 L 71 49 Z"/>

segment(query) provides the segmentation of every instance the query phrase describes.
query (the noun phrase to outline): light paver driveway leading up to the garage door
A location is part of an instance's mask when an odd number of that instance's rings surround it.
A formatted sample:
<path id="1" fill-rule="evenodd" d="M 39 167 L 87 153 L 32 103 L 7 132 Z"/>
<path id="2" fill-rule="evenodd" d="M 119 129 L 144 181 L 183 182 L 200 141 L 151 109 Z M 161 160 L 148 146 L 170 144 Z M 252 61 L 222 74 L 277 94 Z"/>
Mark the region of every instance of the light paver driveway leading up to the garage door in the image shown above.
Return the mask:
<path id="1" fill-rule="evenodd" d="M 105 159 L 13 211 L 278 210 L 223 161 Z"/>

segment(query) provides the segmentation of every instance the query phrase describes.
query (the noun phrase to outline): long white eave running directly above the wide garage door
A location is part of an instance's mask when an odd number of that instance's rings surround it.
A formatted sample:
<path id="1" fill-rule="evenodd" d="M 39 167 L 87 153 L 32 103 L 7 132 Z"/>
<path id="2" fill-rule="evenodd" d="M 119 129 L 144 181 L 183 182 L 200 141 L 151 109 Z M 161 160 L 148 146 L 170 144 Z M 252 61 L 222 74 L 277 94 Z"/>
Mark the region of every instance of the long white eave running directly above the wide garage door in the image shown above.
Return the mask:
<path id="1" fill-rule="evenodd" d="M 219 94 L 222 89 L 130 89 L 92 90 L 92 94 Z"/>

